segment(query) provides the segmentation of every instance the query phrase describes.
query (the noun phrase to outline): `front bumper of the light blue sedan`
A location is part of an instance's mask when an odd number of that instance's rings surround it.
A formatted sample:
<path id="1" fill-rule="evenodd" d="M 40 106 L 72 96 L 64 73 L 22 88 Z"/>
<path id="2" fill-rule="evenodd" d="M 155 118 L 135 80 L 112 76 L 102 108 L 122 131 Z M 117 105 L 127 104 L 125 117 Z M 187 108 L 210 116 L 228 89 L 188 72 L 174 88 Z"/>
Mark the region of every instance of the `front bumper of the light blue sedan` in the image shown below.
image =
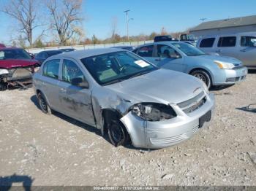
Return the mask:
<path id="1" fill-rule="evenodd" d="M 236 82 L 244 81 L 248 70 L 246 67 L 238 69 L 222 69 L 222 74 L 216 77 L 214 85 L 233 85 Z"/>

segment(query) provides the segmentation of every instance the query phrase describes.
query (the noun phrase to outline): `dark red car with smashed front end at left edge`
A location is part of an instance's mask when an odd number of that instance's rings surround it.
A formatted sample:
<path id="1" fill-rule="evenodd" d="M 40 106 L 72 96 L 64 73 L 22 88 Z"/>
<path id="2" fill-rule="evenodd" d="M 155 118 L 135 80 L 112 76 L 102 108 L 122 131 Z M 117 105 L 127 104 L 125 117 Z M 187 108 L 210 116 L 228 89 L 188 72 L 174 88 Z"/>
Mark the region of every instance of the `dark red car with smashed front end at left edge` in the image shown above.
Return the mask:
<path id="1" fill-rule="evenodd" d="M 8 85 L 26 87 L 37 69 L 39 62 L 26 50 L 0 47 L 0 90 L 6 90 Z"/>

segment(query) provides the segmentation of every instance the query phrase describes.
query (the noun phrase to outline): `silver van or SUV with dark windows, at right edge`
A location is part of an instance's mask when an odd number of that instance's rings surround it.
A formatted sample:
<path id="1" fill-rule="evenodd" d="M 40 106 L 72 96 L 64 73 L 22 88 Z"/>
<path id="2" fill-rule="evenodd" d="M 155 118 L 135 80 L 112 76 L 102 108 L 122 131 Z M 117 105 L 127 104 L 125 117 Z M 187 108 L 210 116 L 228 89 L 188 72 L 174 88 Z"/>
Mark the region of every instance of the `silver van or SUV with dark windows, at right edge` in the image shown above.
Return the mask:
<path id="1" fill-rule="evenodd" d="M 204 52 L 237 58 L 248 69 L 256 69 L 256 33 L 205 36 L 198 40 L 197 47 Z"/>

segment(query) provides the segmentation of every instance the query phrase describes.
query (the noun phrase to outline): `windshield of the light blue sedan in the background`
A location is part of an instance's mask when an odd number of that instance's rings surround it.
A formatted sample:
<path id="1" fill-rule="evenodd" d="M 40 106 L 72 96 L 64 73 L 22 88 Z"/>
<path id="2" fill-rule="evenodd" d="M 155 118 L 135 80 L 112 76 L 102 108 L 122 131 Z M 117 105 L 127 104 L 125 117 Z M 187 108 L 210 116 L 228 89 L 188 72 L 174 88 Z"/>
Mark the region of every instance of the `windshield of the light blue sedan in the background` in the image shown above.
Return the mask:
<path id="1" fill-rule="evenodd" d="M 206 55 L 205 52 L 187 43 L 173 43 L 173 46 L 184 52 L 187 56 Z"/>

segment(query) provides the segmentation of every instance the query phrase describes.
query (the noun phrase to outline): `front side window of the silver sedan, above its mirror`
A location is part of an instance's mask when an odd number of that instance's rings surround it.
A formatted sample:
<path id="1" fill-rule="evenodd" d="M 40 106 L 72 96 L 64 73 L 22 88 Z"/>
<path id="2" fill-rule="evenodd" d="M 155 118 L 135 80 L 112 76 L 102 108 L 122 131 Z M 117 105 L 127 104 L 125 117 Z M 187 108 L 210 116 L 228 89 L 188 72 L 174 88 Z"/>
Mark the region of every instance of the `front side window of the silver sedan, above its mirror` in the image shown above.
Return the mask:
<path id="1" fill-rule="evenodd" d="M 64 59 L 62 65 L 62 80 L 71 83 L 72 79 L 80 78 L 81 82 L 86 82 L 83 72 L 79 69 L 78 65 L 73 61 Z"/>

